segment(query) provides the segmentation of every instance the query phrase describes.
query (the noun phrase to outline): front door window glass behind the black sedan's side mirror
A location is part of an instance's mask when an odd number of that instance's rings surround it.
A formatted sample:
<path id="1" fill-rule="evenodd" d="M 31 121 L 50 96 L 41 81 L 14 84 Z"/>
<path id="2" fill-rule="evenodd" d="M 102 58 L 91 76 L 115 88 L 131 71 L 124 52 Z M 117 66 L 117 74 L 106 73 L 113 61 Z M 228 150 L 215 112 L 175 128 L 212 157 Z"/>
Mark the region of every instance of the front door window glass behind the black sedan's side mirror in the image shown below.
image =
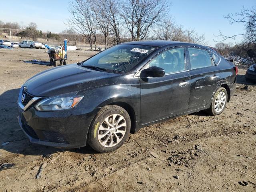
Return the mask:
<path id="1" fill-rule="evenodd" d="M 165 74 L 185 70 L 184 48 L 174 48 L 166 50 L 153 58 L 149 67 L 156 66 L 163 68 Z"/>

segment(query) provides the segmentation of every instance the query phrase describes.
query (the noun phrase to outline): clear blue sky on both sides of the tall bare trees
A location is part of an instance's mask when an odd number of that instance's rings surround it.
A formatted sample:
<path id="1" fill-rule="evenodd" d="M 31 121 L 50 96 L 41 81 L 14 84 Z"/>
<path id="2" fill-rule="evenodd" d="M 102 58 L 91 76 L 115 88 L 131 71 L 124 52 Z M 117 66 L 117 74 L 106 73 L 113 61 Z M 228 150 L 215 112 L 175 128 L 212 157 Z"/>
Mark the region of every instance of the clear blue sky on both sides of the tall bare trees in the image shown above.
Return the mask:
<path id="1" fill-rule="evenodd" d="M 69 0 L 1 0 L 0 20 L 3 22 L 35 22 L 42 31 L 61 32 L 66 29 L 64 22 L 70 16 Z M 213 34 L 221 30 L 233 35 L 244 32 L 242 24 L 230 25 L 223 15 L 238 12 L 242 6 L 256 6 L 255 0 L 172 0 L 170 15 L 185 28 L 194 28 L 205 34 L 210 46 L 214 46 Z M 216 39 L 216 38 L 215 38 Z M 241 39 L 236 38 L 236 42 Z M 230 39 L 226 42 L 233 42 Z"/>

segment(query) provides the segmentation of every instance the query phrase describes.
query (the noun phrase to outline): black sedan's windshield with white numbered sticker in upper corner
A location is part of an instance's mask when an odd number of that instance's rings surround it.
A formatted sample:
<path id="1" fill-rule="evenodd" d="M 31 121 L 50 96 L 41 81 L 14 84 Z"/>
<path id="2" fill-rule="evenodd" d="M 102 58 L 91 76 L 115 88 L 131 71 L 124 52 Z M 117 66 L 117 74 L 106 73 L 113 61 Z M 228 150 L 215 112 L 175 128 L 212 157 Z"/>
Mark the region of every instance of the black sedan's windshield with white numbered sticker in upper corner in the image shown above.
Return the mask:
<path id="1" fill-rule="evenodd" d="M 82 66 L 113 73 L 126 73 L 154 50 L 154 46 L 119 44 L 89 58 Z"/>

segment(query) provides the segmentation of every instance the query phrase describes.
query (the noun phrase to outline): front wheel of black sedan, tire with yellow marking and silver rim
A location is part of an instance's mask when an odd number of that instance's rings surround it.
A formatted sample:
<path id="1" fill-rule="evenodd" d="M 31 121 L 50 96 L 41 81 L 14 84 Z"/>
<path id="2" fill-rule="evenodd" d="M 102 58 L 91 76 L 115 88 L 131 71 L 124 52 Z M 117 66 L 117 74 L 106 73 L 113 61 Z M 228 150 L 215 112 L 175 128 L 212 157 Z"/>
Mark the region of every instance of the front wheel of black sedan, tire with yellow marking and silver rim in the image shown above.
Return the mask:
<path id="1" fill-rule="evenodd" d="M 112 124 L 113 116 L 116 117 L 114 125 Z M 108 125 L 106 124 L 106 119 L 108 120 Z M 118 126 L 120 127 L 118 128 Z M 127 140 L 130 129 L 131 120 L 128 112 L 120 106 L 108 105 L 103 107 L 92 121 L 88 131 L 87 142 L 97 152 L 114 151 Z"/>

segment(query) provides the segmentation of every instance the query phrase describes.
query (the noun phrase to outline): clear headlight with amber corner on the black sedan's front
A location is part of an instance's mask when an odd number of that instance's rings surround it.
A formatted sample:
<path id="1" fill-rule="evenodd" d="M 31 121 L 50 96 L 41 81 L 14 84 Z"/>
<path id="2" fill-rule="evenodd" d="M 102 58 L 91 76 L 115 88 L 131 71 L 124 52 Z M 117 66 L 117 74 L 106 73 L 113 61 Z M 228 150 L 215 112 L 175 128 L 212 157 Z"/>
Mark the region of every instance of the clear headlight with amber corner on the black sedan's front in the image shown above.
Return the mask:
<path id="1" fill-rule="evenodd" d="M 38 111 L 53 111 L 70 109 L 76 106 L 84 96 L 56 96 L 46 98 L 36 105 Z"/>

